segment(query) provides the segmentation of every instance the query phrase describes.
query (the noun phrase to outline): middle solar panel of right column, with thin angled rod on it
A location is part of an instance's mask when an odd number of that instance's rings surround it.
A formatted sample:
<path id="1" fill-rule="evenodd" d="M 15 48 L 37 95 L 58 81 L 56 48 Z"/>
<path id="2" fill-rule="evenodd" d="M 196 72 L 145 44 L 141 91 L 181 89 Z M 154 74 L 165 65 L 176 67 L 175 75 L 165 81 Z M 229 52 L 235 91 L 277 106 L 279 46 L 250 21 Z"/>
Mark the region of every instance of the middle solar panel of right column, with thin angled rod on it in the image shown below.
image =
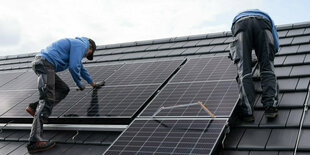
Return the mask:
<path id="1" fill-rule="evenodd" d="M 215 116 L 230 116 L 238 99 L 234 80 L 216 82 L 171 83 L 164 87 L 140 116 L 152 116 L 161 107 L 201 101 Z M 210 116 L 201 105 L 160 111 L 157 116 Z"/>

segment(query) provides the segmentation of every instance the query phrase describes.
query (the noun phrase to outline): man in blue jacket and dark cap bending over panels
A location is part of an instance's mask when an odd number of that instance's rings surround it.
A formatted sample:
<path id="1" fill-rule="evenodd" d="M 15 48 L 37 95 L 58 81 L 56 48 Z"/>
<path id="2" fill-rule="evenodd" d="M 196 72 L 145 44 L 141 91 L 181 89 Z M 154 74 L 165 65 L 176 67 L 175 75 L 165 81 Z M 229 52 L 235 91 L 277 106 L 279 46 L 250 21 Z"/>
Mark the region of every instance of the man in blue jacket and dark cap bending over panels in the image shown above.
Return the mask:
<path id="1" fill-rule="evenodd" d="M 26 111 L 34 116 L 27 145 L 29 153 L 48 150 L 55 146 L 54 142 L 42 139 L 43 123 L 47 122 L 53 106 L 64 99 L 70 91 L 68 85 L 57 76 L 56 72 L 69 68 L 80 90 L 85 89 L 81 77 L 92 87 L 100 87 L 93 82 L 81 62 L 83 57 L 92 60 L 95 50 L 96 44 L 89 38 L 65 38 L 52 43 L 35 56 L 32 69 L 38 76 L 40 98 L 38 102 L 31 103 L 26 108 Z"/>

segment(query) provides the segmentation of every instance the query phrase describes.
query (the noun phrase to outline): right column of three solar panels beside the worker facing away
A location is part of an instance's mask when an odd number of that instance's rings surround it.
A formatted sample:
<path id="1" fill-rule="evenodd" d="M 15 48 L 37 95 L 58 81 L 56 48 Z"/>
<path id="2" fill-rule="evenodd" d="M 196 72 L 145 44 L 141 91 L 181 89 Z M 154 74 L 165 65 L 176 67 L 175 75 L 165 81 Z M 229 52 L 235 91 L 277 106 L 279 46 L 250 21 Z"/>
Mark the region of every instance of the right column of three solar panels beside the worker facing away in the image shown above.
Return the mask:
<path id="1" fill-rule="evenodd" d="M 235 76 L 227 57 L 189 59 L 105 154 L 211 154 L 238 99 Z"/>

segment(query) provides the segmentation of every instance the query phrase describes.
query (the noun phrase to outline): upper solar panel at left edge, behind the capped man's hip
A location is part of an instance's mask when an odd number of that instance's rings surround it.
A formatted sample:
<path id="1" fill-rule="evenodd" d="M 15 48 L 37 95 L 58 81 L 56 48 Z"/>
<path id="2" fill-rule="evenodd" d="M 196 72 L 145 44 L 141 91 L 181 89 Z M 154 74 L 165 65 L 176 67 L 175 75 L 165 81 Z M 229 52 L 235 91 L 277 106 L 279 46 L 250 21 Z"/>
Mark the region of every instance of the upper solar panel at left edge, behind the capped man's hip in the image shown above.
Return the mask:
<path id="1" fill-rule="evenodd" d="M 37 75 L 29 70 L 0 87 L 1 90 L 37 89 Z"/>

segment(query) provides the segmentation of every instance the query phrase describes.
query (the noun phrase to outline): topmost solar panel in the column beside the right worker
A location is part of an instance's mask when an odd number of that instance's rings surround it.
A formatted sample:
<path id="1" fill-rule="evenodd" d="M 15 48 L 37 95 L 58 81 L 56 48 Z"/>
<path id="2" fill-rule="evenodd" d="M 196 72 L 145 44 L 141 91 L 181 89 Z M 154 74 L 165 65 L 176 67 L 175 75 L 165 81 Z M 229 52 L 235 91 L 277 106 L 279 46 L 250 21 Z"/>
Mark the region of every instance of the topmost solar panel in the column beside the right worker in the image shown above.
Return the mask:
<path id="1" fill-rule="evenodd" d="M 226 56 L 190 59 L 171 82 L 234 79 L 236 71 L 236 65 Z"/>

